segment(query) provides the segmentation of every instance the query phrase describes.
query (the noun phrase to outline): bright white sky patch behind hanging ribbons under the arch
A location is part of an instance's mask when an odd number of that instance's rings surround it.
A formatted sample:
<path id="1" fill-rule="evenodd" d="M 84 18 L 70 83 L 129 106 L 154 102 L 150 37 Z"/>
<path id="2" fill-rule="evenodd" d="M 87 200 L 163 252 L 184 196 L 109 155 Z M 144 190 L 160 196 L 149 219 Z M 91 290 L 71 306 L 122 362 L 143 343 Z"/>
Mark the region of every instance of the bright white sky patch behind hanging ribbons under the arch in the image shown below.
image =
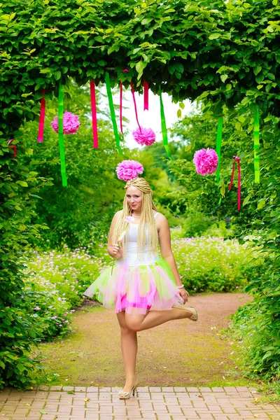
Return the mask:
<path id="1" fill-rule="evenodd" d="M 114 89 L 115 91 L 115 89 Z M 145 128 L 151 128 L 156 134 L 156 141 L 162 141 L 162 134 L 161 134 L 161 120 L 160 120 L 160 97 L 158 95 L 153 94 L 153 92 L 149 91 L 149 109 L 148 111 L 144 111 L 144 98 L 143 94 L 139 94 L 135 92 L 135 99 L 137 102 L 137 113 L 139 124 Z M 116 105 L 119 100 L 119 94 L 113 95 L 113 102 L 115 104 L 115 111 L 116 111 L 116 120 L 118 124 L 118 130 L 120 131 L 120 118 L 119 118 L 119 111 L 116 109 Z M 172 124 L 178 121 L 177 111 L 179 109 L 179 103 L 173 104 L 172 97 L 169 97 L 167 93 L 162 94 L 162 102 L 165 107 L 165 119 L 167 123 L 167 130 L 172 127 Z M 182 111 L 182 117 L 186 116 L 192 109 L 190 101 L 186 100 L 183 101 L 185 104 L 185 109 Z M 125 109 L 124 109 L 125 108 Z M 128 133 L 125 134 L 125 144 L 128 148 L 133 149 L 135 147 L 142 148 L 144 146 L 140 146 L 134 140 L 132 136 L 132 131 L 136 130 L 137 120 L 134 111 L 134 104 L 132 99 L 132 92 L 130 89 L 125 90 L 123 92 L 123 116 L 130 120 L 128 124 L 123 123 L 124 130 L 128 130 Z M 181 117 L 181 118 L 182 118 Z"/>

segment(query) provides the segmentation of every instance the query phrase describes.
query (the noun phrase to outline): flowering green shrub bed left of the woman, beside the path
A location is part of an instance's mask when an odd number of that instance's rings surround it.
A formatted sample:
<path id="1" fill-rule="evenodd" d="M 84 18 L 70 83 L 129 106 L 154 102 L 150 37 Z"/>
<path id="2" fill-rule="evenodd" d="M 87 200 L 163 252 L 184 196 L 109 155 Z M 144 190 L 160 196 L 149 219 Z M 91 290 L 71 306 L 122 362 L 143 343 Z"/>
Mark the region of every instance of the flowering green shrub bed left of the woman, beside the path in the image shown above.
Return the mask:
<path id="1" fill-rule="evenodd" d="M 76 248 L 64 252 L 49 251 L 30 255 L 25 268 L 27 281 L 22 294 L 22 308 L 40 325 L 41 338 L 62 337 L 70 326 L 73 307 L 83 302 L 83 292 L 111 261 L 104 245 L 99 249 Z"/>

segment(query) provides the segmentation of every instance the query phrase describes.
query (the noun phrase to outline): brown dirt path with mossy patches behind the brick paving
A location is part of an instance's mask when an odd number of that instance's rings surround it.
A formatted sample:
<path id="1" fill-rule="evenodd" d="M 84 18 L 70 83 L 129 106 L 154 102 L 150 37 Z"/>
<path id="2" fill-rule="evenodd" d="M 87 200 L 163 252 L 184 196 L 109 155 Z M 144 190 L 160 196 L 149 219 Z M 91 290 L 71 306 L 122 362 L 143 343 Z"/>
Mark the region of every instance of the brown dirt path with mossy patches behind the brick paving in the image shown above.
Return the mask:
<path id="1" fill-rule="evenodd" d="M 216 386 L 223 380 L 225 385 L 244 384 L 228 373 L 234 367 L 232 344 L 217 334 L 228 324 L 228 316 L 248 300 L 242 293 L 190 297 L 188 303 L 199 314 L 197 323 L 171 321 L 139 332 L 139 386 Z M 124 368 L 115 312 L 103 307 L 78 311 L 73 330 L 62 342 L 40 346 L 47 356 L 44 364 L 60 375 L 57 384 L 122 386 Z"/>

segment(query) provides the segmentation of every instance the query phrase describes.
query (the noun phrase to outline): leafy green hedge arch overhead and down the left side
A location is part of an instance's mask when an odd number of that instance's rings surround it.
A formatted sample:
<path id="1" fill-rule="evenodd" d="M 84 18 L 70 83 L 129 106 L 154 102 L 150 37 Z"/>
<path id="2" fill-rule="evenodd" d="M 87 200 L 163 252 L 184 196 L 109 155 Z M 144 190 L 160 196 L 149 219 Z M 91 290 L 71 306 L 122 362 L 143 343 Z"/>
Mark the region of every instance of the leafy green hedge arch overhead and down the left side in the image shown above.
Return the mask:
<path id="1" fill-rule="evenodd" d="M 176 101 L 207 98 L 215 115 L 221 115 L 223 104 L 258 104 L 262 122 L 268 127 L 262 144 L 265 153 L 261 154 L 265 169 L 260 188 L 250 187 L 253 180 L 248 175 L 250 211 L 241 226 L 253 225 L 273 258 L 280 217 L 275 196 L 279 185 L 275 153 L 279 144 L 279 10 L 277 0 L 1 3 L 0 309 L 2 319 L 8 322 L 1 323 L 2 385 L 24 386 L 28 370 L 32 370 L 32 362 L 24 354 L 35 332 L 30 334 L 29 324 L 16 306 L 23 286 L 18 257 L 36 230 L 29 225 L 32 195 L 47 181 L 29 173 L 22 164 L 22 156 L 31 151 L 21 127 L 38 120 L 42 90 L 47 90 L 48 101 L 53 94 L 57 96 L 59 81 L 66 85 L 73 78 L 78 85 L 85 85 L 95 79 L 99 83 L 110 71 L 113 85 L 122 80 L 128 86 L 134 80 L 136 89 L 141 90 L 146 79 L 153 92 L 158 93 L 162 85 Z M 125 68 L 129 73 L 123 72 Z M 239 123 L 241 128 L 247 124 L 243 119 Z M 7 147 L 13 138 L 18 146 L 15 158 Z M 239 148 L 235 154 L 237 151 Z M 271 235 L 269 239 L 267 235 Z M 276 276 L 276 269 L 273 273 Z M 272 307 L 267 310 L 279 325 Z M 268 363 L 269 358 L 266 360 Z"/>

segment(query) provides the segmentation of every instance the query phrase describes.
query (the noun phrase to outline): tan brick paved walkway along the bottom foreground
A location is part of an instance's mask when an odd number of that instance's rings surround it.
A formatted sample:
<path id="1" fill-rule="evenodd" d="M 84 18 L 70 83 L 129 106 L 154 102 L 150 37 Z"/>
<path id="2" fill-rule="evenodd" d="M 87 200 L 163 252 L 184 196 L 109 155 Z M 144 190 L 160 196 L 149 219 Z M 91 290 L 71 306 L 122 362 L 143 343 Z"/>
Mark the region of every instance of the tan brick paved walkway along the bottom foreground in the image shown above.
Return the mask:
<path id="1" fill-rule="evenodd" d="M 255 388 L 138 387 L 130 400 L 120 388 L 43 386 L 0 392 L 0 419 L 9 420 L 280 420 L 280 406 L 257 405 Z"/>

